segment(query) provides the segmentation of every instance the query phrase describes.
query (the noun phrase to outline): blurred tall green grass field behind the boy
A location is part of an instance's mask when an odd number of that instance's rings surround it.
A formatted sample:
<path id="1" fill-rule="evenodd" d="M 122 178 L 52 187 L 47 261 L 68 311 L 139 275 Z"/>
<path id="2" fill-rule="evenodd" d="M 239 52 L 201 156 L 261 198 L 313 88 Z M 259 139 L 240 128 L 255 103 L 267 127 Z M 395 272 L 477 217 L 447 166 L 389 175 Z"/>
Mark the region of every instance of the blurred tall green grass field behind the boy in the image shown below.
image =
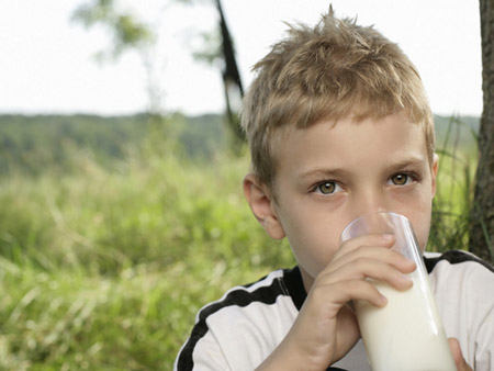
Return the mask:
<path id="1" fill-rule="evenodd" d="M 468 236 L 465 153 L 442 156 L 431 249 Z M 72 162 L 0 178 L 0 370 L 170 370 L 200 306 L 294 265 L 244 201 L 246 156 Z"/>

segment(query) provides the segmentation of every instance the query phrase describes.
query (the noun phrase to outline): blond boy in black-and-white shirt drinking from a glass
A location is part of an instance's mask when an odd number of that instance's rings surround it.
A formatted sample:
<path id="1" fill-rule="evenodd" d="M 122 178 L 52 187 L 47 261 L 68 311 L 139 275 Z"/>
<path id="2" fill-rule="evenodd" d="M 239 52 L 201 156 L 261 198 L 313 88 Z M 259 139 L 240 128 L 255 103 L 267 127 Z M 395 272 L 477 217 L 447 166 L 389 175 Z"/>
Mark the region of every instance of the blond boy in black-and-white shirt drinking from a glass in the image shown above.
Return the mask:
<path id="1" fill-rule="evenodd" d="M 420 78 L 395 44 L 332 9 L 313 29 L 292 27 L 255 70 L 244 193 L 297 267 L 203 307 L 176 370 L 369 370 L 348 303 L 384 306 L 366 278 L 406 290 L 415 266 L 390 249 L 393 236 L 339 236 L 360 215 L 391 211 L 425 249 L 438 159 Z M 424 259 L 458 370 L 494 370 L 492 268 L 461 251 Z"/>

